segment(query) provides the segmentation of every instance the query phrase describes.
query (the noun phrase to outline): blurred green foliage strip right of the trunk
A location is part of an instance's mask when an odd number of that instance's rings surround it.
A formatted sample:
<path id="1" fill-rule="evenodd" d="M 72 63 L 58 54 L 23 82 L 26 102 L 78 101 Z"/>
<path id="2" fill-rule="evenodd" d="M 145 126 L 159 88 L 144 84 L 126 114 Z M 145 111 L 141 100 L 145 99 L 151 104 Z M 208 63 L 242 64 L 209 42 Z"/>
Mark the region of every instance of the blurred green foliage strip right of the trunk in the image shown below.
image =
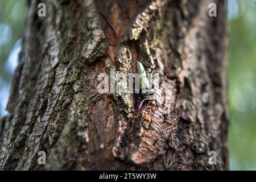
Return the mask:
<path id="1" fill-rule="evenodd" d="M 230 0 L 230 169 L 256 170 L 256 1 Z"/>

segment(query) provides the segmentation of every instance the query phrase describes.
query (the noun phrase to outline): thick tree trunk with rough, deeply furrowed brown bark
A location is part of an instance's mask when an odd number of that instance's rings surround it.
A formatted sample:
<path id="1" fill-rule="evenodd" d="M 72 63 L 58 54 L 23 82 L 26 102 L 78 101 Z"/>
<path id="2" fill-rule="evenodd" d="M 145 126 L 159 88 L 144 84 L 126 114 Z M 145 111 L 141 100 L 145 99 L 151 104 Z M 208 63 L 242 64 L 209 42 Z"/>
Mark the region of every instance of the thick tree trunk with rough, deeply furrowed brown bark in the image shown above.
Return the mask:
<path id="1" fill-rule="evenodd" d="M 46 17 L 28 5 L 2 170 L 228 169 L 225 1 L 43 2 Z M 135 73 L 137 60 L 160 75 L 160 105 L 138 110 L 135 94 L 97 92 L 100 73 Z"/>

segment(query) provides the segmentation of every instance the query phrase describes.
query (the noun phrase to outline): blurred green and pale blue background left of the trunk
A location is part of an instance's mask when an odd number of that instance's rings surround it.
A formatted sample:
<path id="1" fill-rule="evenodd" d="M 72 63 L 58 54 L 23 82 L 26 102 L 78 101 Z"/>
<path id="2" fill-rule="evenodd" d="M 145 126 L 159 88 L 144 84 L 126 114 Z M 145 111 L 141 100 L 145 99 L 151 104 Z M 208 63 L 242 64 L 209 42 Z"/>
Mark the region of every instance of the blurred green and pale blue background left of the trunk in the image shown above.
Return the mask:
<path id="1" fill-rule="evenodd" d="M 26 20 L 26 0 L 0 1 L 0 117 L 6 114 L 11 77 L 17 64 Z"/>

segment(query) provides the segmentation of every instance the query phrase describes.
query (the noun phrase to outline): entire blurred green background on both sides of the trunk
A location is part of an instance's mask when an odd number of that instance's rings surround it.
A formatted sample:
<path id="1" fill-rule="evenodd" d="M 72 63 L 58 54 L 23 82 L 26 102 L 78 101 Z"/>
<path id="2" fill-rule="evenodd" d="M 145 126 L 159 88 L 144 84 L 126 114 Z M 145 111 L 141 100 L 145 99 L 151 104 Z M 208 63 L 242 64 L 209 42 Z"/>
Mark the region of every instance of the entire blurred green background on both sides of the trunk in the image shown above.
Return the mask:
<path id="1" fill-rule="evenodd" d="M 0 117 L 7 114 L 11 78 L 18 64 L 26 0 L 0 1 Z M 231 170 L 256 170 L 256 0 L 228 0 Z"/>

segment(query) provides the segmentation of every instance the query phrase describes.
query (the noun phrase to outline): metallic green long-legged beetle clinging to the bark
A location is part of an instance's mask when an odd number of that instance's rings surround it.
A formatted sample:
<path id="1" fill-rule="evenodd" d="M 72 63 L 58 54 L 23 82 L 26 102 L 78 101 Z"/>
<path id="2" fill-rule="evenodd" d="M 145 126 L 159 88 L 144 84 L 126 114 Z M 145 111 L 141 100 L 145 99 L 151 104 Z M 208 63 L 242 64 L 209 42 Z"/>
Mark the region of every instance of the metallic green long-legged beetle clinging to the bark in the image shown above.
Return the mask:
<path id="1" fill-rule="evenodd" d="M 155 101 L 158 105 L 159 102 L 156 100 L 154 92 L 150 92 L 150 89 L 154 89 L 154 85 L 152 84 L 151 88 L 150 88 L 150 82 L 147 79 L 147 74 L 146 71 L 143 67 L 143 64 L 141 63 L 140 60 L 137 61 L 136 63 L 136 72 L 141 76 L 139 78 L 139 90 L 141 90 L 141 96 L 142 96 L 142 101 L 139 104 L 138 110 L 141 109 L 141 107 L 143 106 L 144 102 L 149 102 L 149 101 Z M 152 64 L 151 64 L 151 72 L 152 73 Z"/>

